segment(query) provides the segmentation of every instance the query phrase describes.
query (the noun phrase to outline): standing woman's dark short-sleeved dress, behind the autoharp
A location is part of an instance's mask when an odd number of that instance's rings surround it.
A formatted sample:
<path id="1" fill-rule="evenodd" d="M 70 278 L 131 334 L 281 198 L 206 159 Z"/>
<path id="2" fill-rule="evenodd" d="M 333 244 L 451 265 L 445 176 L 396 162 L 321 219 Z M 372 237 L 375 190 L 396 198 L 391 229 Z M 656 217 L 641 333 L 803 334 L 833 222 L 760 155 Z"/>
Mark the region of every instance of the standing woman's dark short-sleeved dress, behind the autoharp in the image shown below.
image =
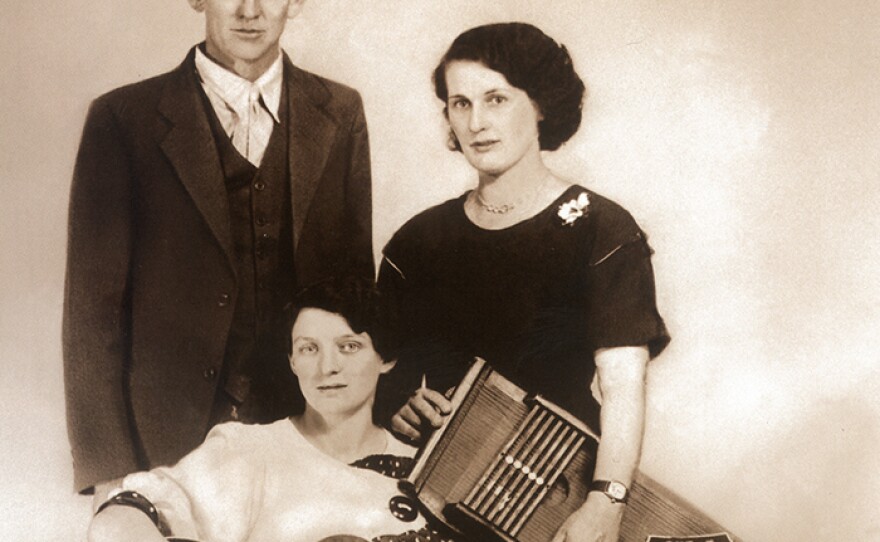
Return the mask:
<path id="1" fill-rule="evenodd" d="M 582 214 L 566 221 L 560 208 L 583 193 Z M 669 342 L 644 232 L 622 207 L 577 185 L 501 230 L 467 218 L 467 195 L 418 214 L 385 247 L 379 286 L 402 348 L 381 411 L 401 406 L 422 375 L 432 389 L 455 386 L 479 356 L 598 432 L 593 353 L 647 345 L 654 357 Z"/>

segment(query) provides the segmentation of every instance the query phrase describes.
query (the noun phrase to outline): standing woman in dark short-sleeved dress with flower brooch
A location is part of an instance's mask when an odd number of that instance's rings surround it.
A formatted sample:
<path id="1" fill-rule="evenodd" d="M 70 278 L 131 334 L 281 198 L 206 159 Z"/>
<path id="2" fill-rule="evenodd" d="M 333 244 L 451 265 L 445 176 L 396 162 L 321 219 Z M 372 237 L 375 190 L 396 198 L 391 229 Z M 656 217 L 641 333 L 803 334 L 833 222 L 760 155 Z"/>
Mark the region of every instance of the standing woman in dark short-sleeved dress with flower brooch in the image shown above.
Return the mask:
<path id="1" fill-rule="evenodd" d="M 439 427 L 444 392 L 475 356 L 486 359 L 601 430 L 595 491 L 555 540 L 617 540 L 620 490 L 641 453 L 646 363 L 669 341 L 646 236 L 626 210 L 544 164 L 541 151 L 581 120 L 584 85 L 565 47 L 528 24 L 473 28 L 434 85 L 450 147 L 478 181 L 385 248 L 380 288 L 405 323 L 394 389 L 428 388 L 398 398 L 392 426 L 413 439 Z"/>

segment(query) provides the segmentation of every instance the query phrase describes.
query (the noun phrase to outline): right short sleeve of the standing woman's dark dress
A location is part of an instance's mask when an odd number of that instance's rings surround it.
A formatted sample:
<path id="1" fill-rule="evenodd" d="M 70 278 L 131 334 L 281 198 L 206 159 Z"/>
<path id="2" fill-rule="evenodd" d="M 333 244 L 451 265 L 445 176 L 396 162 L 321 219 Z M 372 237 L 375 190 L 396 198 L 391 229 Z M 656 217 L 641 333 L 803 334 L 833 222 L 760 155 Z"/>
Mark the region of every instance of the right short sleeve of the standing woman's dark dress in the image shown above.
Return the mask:
<path id="1" fill-rule="evenodd" d="M 588 334 L 595 349 L 645 345 L 653 358 L 670 340 L 657 311 L 653 251 L 644 232 L 623 214 L 612 230 L 597 232 L 587 263 Z"/>

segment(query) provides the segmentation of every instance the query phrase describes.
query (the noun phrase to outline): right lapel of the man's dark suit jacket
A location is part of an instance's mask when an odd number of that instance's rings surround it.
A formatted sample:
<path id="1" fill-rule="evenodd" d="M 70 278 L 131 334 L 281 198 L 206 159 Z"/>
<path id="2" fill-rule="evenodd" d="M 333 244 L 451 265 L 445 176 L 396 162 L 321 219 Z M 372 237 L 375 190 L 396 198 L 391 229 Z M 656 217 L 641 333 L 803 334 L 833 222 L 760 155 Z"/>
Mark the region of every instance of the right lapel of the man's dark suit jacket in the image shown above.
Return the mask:
<path id="1" fill-rule="evenodd" d="M 336 134 L 336 122 L 323 109 L 329 91 L 315 77 L 294 66 L 284 56 L 284 79 L 287 85 L 290 139 L 291 208 L 293 209 L 294 250 L 318 188 L 321 173 Z"/>

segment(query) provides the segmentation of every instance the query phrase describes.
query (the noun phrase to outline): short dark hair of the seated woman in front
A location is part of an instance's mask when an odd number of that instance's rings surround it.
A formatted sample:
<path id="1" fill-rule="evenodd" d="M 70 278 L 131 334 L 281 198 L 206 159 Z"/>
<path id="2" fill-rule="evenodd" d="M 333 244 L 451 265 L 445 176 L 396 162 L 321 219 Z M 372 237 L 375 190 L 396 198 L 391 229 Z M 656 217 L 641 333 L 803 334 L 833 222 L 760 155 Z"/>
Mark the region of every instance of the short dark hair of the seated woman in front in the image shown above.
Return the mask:
<path id="1" fill-rule="evenodd" d="M 303 309 L 321 309 L 345 318 L 355 333 L 366 332 L 386 362 L 397 359 L 390 307 L 382 303 L 376 284 L 361 277 L 330 277 L 300 290 L 286 311 L 287 353 L 293 351 L 291 332 Z"/>

